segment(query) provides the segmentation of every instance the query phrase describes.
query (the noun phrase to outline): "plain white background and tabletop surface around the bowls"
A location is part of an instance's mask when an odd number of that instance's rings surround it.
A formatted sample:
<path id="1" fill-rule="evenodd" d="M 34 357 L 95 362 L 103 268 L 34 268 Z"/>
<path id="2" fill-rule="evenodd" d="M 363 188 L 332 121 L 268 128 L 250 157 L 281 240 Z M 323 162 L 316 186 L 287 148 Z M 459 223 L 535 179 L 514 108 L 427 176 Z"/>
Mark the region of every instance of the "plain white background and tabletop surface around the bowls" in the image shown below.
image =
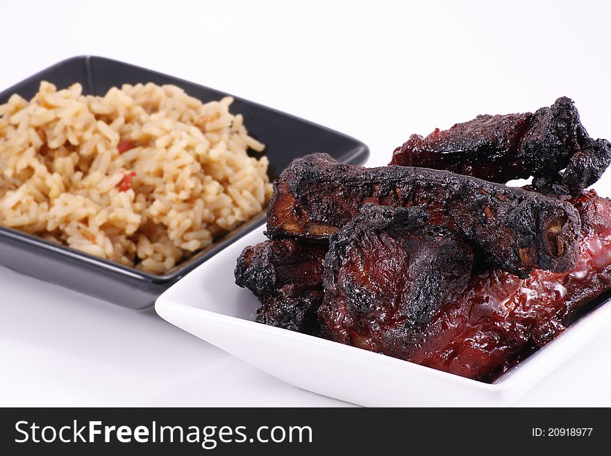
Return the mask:
<path id="1" fill-rule="evenodd" d="M 124 60 L 364 141 L 576 101 L 611 137 L 611 8 L 592 1 L 11 1 L 0 89 L 70 56 Z M 607 3 L 608 4 L 608 3 Z M 597 188 L 611 196 L 611 178 Z M 344 405 L 159 319 L 0 268 L 0 405 Z M 611 405 L 609 335 L 517 405 Z M 406 385 L 409 387 L 409 385 Z"/>

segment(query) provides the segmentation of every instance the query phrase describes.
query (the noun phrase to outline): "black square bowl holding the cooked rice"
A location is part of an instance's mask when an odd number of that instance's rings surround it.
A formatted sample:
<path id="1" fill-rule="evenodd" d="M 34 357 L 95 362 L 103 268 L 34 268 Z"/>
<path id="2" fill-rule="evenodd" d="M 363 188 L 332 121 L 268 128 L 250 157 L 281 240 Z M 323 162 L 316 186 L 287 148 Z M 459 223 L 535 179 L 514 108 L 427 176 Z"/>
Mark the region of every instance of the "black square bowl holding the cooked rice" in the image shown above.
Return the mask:
<path id="1" fill-rule="evenodd" d="M 13 93 L 31 99 L 37 92 L 40 81 L 49 81 L 58 88 L 81 83 L 85 94 L 94 95 L 103 95 L 110 87 L 120 87 L 124 83 L 147 82 L 177 85 L 204 102 L 228 95 L 116 60 L 79 56 L 63 60 L 4 90 L 0 93 L 0 103 L 6 103 Z M 266 144 L 265 155 L 269 158 L 270 178 L 278 176 L 294 158 L 312 152 L 325 151 L 336 160 L 350 164 L 362 164 L 369 156 L 369 149 L 365 144 L 342 133 L 237 96 L 234 96 L 234 99 L 232 112 L 244 115 L 244 124 L 249 134 Z M 143 309 L 153 305 L 162 292 L 185 274 L 263 221 L 265 214 L 259 214 L 162 276 L 124 267 L 122 264 L 3 227 L 0 227 L 0 264 L 124 307 Z"/>

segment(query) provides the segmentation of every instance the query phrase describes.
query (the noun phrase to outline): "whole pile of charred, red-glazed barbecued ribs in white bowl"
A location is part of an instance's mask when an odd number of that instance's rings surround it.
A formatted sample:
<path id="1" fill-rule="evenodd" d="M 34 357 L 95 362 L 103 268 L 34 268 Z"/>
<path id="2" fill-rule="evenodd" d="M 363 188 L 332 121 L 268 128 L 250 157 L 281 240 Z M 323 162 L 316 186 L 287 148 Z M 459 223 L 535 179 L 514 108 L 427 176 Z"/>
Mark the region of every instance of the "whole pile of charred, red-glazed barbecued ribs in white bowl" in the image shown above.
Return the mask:
<path id="1" fill-rule="evenodd" d="M 489 382 L 611 289 L 611 200 L 586 190 L 610 162 L 566 97 L 412 135 L 387 167 L 308 155 L 235 280 L 260 323 Z"/>

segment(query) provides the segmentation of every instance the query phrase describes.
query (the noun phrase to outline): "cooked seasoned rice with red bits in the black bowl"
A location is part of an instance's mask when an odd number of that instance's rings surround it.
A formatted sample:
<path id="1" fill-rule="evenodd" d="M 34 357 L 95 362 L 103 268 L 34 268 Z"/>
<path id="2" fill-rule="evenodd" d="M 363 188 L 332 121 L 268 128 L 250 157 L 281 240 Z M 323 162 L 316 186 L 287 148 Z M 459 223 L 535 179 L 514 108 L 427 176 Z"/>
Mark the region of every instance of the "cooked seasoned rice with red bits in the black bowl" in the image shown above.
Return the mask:
<path id="1" fill-rule="evenodd" d="M 231 97 L 82 89 L 42 82 L 29 103 L 0 105 L 0 225 L 164 273 L 269 200 L 267 158 L 246 153 L 265 146 L 229 112 Z"/>

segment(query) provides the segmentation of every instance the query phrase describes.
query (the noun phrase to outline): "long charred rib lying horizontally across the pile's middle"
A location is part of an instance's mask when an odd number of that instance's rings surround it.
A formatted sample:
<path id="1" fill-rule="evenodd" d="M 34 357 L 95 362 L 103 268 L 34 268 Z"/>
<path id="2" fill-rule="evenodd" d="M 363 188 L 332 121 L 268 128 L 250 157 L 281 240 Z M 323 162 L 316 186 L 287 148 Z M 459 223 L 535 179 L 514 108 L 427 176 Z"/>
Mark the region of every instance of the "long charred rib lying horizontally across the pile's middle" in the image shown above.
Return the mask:
<path id="1" fill-rule="evenodd" d="M 318 153 L 294 160 L 274 184 L 267 214 L 272 239 L 328 239 L 365 203 L 419 205 L 428 223 L 458 233 L 489 264 L 528 277 L 533 268 L 568 271 L 580 221 L 569 203 L 447 171 L 363 168 Z"/>

